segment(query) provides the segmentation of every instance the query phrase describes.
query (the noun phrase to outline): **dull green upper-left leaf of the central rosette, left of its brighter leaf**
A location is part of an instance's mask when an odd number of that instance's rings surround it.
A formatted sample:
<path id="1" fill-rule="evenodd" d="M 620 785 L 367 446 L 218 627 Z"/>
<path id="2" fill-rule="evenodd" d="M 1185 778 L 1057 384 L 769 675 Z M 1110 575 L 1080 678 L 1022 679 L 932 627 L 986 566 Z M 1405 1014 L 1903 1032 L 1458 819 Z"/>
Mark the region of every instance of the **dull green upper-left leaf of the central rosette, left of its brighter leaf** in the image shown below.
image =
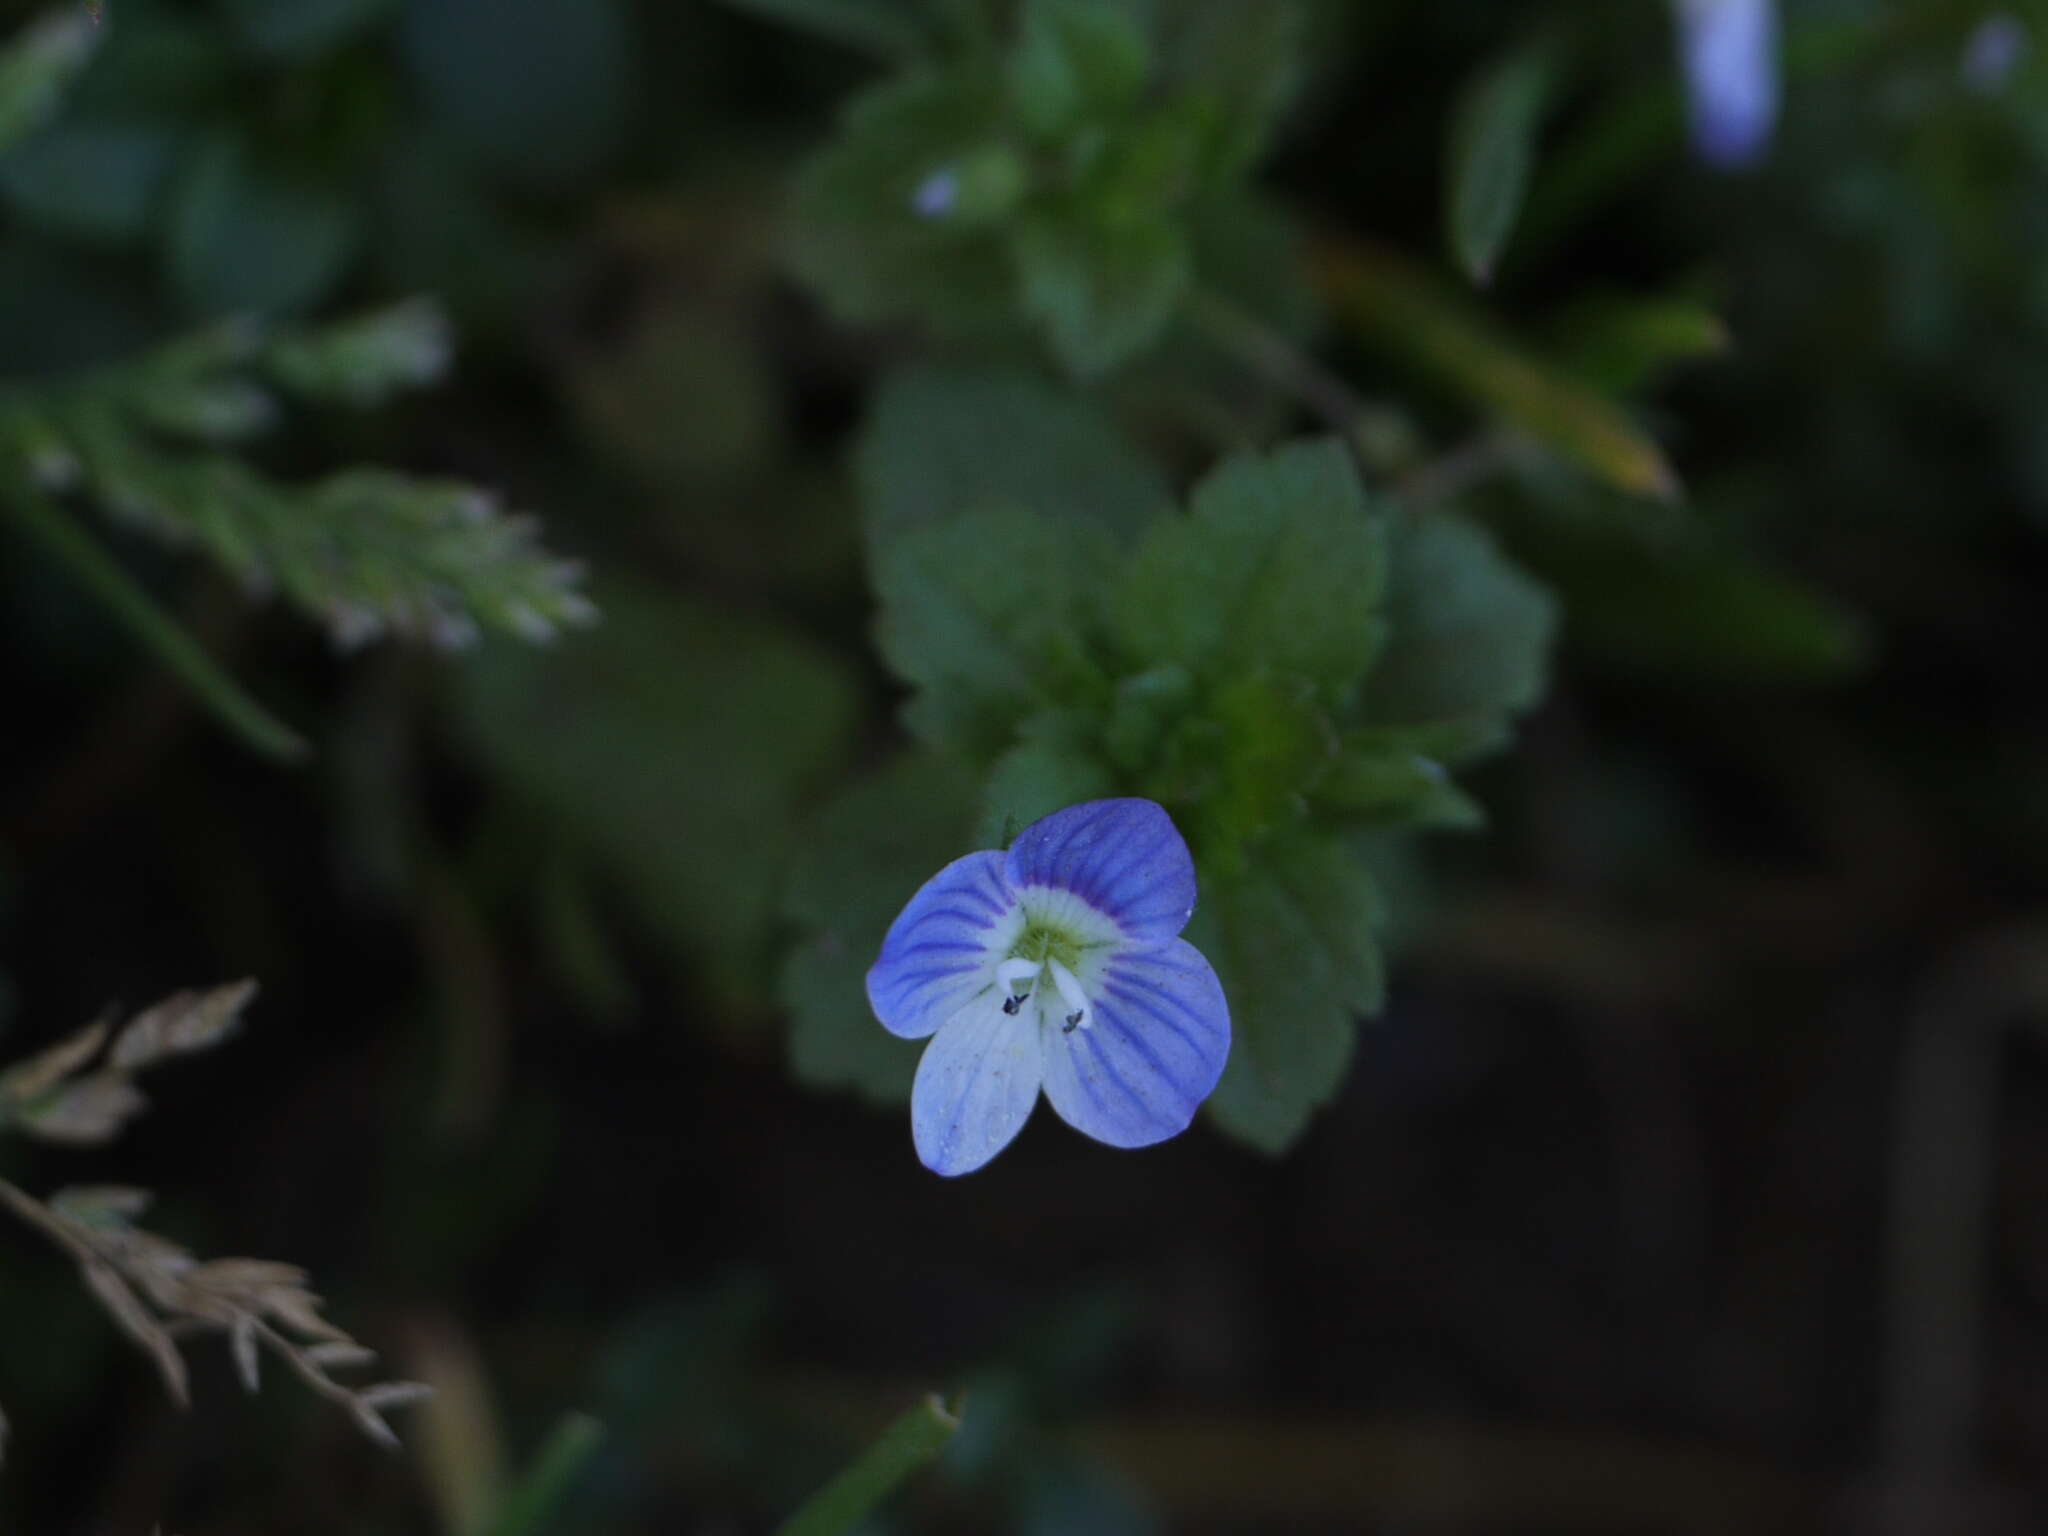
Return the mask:
<path id="1" fill-rule="evenodd" d="M 922 739 L 993 756 L 1028 715 L 1100 686 L 1090 635 L 1110 543 L 1018 508 L 969 512 L 874 551 L 877 633 L 918 686 Z"/>

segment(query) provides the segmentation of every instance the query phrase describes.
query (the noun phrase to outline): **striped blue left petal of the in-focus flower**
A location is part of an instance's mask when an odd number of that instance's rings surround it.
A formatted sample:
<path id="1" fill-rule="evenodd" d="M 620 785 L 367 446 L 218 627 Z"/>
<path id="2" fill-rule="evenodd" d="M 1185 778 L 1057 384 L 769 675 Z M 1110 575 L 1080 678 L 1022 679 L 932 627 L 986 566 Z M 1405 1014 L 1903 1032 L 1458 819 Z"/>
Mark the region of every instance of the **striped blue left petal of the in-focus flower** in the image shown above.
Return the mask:
<path id="1" fill-rule="evenodd" d="M 891 1034 L 922 1040 L 995 985 L 993 965 L 1024 913 L 1004 885 L 997 852 L 956 858 L 909 899 L 868 969 L 868 1006 Z"/>

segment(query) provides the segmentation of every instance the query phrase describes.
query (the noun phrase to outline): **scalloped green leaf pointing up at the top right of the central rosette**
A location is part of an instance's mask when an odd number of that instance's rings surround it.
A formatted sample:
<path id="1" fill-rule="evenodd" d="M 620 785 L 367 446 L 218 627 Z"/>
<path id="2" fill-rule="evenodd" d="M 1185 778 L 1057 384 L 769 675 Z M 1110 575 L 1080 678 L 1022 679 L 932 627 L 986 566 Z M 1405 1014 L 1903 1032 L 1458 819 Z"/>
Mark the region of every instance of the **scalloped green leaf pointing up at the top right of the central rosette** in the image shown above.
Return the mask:
<path id="1" fill-rule="evenodd" d="M 1155 526 L 1116 594 L 1139 668 L 1272 668 L 1346 696 L 1372 666 L 1386 518 L 1333 438 L 1243 453 Z"/>

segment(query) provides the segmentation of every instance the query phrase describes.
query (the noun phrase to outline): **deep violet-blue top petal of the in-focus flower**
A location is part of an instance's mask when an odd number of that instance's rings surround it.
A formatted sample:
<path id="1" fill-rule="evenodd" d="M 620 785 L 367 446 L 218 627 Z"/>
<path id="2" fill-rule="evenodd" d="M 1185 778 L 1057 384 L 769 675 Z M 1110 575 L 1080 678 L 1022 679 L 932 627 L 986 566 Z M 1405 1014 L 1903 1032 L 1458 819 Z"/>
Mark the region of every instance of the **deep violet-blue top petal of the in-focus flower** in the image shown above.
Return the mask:
<path id="1" fill-rule="evenodd" d="M 1194 911 L 1194 858 L 1153 801 L 1087 801 L 1032 821 L 1004 877 L 1012 891 L 1073 891 L 1137 944 L 1163 944 Z"/>

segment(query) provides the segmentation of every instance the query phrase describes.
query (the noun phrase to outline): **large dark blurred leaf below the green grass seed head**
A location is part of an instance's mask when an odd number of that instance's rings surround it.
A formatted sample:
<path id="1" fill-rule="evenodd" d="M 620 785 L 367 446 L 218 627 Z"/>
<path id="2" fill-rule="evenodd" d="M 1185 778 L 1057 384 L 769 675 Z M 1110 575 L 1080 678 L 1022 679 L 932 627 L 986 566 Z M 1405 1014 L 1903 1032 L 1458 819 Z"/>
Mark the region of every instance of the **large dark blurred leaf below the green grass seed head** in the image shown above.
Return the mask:
<path id="1" fill-rule="evenodd" d="M 846 666 L 768 621 L 614 582 L 573 645 L 483 651 L 453 684 L 498 780 L 600 858 L 715 991 L 758 995 L 797 813 L 852 745 Z"/>

